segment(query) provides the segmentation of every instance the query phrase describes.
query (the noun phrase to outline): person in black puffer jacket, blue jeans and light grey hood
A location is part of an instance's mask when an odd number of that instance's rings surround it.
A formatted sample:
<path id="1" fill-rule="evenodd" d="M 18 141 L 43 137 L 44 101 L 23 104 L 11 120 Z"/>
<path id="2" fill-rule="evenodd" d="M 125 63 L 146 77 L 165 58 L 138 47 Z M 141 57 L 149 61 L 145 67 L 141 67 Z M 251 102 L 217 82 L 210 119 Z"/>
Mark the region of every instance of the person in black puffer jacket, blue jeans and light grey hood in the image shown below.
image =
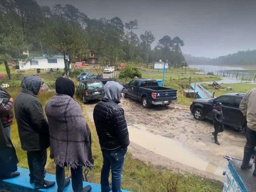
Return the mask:
<path id="1" fill-rule="evenodd" d="M 111 190 L 108 181 L 110 170 L 112 172 L 112 191 L 121 192 L 121 175 L 130 141 L 125 113 L 118 104 L 121 93 L 126 93 L 127 90 L 115 81 L 108 81 L 104 86 L 104 92 L 104 98 L 93 111 L 93 119 L 103 155 L 101 192 Z"/>

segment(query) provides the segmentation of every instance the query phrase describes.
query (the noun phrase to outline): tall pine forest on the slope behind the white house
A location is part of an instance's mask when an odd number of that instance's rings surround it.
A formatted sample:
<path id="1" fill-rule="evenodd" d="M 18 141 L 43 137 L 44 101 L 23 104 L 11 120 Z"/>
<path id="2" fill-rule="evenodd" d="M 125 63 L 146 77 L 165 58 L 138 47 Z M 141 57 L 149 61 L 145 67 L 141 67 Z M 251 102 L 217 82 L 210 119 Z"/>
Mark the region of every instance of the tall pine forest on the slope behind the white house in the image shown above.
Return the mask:
<path id="1" fill-rule="evenodd" d="M 61 54 L 84 60 L 93 50 L 99 63 L 153 63 L 162 59 L 177 66 L 184 61 L 183 40 L 163 36 L 155 48 L 150 30 L 136 34 L 136 19 L 114 16 L 92 19 L 73 5 L 40 6 L 34 0 L 0 0 L 0 61 L 22 58 L 29 50 L 40 55 Z M 70 65 L 70 63 L 67 63 Z"/>

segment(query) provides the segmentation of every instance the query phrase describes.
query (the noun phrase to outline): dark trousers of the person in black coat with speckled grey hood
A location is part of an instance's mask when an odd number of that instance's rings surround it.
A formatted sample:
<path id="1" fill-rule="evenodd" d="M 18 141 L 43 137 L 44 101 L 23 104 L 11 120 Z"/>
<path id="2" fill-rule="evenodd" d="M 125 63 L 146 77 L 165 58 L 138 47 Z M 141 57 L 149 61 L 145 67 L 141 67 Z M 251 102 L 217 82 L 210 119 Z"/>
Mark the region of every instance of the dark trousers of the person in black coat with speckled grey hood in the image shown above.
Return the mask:
<path id="1" fill-rule="evenodd" d="M 30 179 L 35 181 L 35 186 L 44 184 L 44 167 L 47 161 L 46 149 L 40 151 L 27 151 L 27 156 Z"/>

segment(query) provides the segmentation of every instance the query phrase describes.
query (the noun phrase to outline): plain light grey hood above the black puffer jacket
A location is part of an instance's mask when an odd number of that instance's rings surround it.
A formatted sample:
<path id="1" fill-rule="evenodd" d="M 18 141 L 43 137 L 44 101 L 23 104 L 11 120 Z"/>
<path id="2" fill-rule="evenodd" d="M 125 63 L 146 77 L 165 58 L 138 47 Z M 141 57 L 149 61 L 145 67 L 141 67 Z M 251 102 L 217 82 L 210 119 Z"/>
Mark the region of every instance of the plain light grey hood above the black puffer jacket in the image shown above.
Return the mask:
<path id="1" fill-rule="evenodd" d="M 107 81 L 104 85 L 104 92 L 106 99 L 111 99 L 114 101 L 120 100 L 121 91 L 124 87 L 115 81 Z"/>

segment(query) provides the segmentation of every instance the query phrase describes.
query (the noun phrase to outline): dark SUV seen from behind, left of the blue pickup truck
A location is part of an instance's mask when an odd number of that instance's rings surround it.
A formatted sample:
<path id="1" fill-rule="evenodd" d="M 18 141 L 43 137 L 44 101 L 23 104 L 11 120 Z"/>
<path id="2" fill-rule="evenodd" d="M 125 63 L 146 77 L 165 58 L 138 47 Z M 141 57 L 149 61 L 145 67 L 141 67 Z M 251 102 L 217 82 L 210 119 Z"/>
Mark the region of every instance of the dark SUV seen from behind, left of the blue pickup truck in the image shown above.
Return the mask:
<path id="1" fill-rule="evenodd" d="M 83 99 L 84 104 L 87 104 L 89 100 L 100 100 L 104 97 L 103 87 L 103 83 L 98 80 L 80 81 L 77 86 L 77 95 Z"/>

